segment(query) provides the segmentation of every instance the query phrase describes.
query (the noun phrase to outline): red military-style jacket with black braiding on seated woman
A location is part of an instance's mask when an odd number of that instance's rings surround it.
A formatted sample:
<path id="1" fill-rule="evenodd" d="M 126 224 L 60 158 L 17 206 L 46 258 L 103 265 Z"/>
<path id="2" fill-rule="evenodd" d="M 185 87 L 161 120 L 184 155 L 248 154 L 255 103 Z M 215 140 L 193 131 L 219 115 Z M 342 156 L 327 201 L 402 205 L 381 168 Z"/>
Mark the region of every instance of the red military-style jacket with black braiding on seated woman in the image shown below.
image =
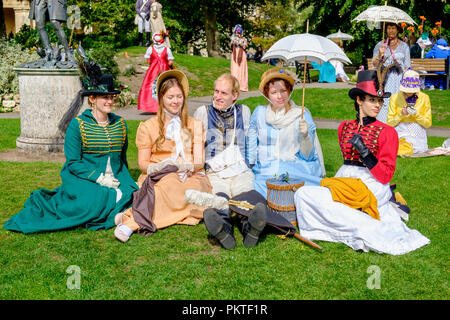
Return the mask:
<path id="1" fill-rule="evenodd" d="M 360 159 L 359 152 L 349 143 L 355 133 L 363 138 L 364 144 L 372 152 L 372 161 Z M 357 120 L 342 122 L 338 128 L 338 137 L 344 164 L 368 167 L 382 184 L 391 181 L 398 152 L 398 135 L 394 128 L 375 118 L 365 117 L 361 127 L 358 127 Z"/>

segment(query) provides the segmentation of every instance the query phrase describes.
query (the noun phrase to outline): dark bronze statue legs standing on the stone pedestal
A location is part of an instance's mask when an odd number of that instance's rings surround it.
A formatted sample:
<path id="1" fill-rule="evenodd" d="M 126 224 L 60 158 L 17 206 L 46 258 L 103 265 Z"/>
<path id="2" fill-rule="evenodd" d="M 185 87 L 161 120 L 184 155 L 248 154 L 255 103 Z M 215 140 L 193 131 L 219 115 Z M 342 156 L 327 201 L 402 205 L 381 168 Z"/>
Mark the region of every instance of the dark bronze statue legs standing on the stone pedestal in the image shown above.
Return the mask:
<path id="1" fill-rule="evenodd" d="M 36 28 L 39 32 L 42 44 L 44 45 L 44 50 L 40 54 L 45 58 L 44 60 L 48 62 L 53 61 L 53 64 L 55 64 L 56 61 L 61 60 L 58 48 L 56 48 L 56 50 L 52 48 L 47 30 L 45 29 L 48 18 L 56 32 L 58 40 L 64 47 L 68 64 L 74 64 L 76 66 L 76 60 L 72 50 L 69 48 L 67 37 L 61 26 L 61 22 L 67 21 L 67 0 L 32 0 L 28 17 L 36 21 Z M 47 63 L 47 65 L 51 64 L 52 63 Z"/>

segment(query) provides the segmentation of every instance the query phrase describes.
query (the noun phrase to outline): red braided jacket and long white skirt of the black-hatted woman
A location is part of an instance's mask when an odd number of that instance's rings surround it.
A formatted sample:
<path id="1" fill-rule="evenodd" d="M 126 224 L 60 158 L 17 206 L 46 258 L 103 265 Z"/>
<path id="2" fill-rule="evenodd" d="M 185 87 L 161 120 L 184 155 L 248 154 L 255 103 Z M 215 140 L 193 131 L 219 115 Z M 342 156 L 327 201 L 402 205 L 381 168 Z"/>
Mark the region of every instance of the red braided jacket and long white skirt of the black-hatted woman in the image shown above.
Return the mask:
<path id="1" fill-rule="evenodd" d="M 358 133 L 370 149 L 368 159 L 360 159 L 349 143 Z M 409 229 L 390 203 L 389 182 L 394 175 L 398 137 L 392 127 L 364 118 L 364 124 L 344 121 L 338 128 L 344 165 L 335 177 L 359 178 L 377 199 L 380 220 L 333 201 L 326 187 L 305 186 L 295 193 L 300 234 L 311 240 L 342 242 L 353 250 L 401 255 L 416 250 L 430 240 L 417 230 Z"/>

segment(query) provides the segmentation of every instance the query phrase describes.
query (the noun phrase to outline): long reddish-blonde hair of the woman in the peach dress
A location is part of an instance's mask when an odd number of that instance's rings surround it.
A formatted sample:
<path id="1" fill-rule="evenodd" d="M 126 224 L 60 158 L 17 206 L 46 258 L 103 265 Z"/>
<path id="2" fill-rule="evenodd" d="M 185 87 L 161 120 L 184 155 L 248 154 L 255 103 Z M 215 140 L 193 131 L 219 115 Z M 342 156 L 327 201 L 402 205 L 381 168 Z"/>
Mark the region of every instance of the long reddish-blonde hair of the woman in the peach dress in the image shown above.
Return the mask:
<path id="1" fill-rule="evenodd" d="M 183 86 L 175 77 L 168 77 L 164 79 L 160 84 L 158 88 L 158 104 L 159 108 L 156 113 L 156 116 L 158 118 L 158 125 L 159 125 L 159 136 L 155 141 L 156 148 L 159 149 L 161 144 L 166 140 L 166 134 L 164 130 L 164 120 L 166 118 L 166 113 L 164 112 L 164 103 L 163 103 L 163 97 L 166 94 L 166 92 L 173 87 L 180 88 L 182 94 L 183 94 L 183 106 L 181 107 L 181 112 L 179 114 L 180 120 L 181 120 L 181 130 L 187 131 L 187 133 L 190 135 L 191 132 L 188 129 L 188 111 L 187 111 L 187 97 L 184 95 Z"/>

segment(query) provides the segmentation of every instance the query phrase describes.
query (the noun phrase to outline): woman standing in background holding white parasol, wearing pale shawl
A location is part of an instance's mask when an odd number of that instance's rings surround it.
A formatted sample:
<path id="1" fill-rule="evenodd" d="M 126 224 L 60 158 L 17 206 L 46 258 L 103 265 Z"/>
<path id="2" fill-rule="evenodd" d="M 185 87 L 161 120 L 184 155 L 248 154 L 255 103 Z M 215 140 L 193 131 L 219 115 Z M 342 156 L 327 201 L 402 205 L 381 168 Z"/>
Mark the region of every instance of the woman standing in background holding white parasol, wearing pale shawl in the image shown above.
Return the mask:
<path id="1" fill-rule="evenodd" d="M 375 46 L 372 62 L 376 69 L 379 65 L 382 66 L 381 71 L 387 69 L 385 89 L 394 94 L 400 87 L 403 72 L 411 67 L 410 51 L 408 45 L 398 37 L 402 30 L 398 24 L 386 23 L 385 30 L 386 40 Z M 385 99 L 377 120 L 386 123 L 388 108 L 389 99 Z"/>

